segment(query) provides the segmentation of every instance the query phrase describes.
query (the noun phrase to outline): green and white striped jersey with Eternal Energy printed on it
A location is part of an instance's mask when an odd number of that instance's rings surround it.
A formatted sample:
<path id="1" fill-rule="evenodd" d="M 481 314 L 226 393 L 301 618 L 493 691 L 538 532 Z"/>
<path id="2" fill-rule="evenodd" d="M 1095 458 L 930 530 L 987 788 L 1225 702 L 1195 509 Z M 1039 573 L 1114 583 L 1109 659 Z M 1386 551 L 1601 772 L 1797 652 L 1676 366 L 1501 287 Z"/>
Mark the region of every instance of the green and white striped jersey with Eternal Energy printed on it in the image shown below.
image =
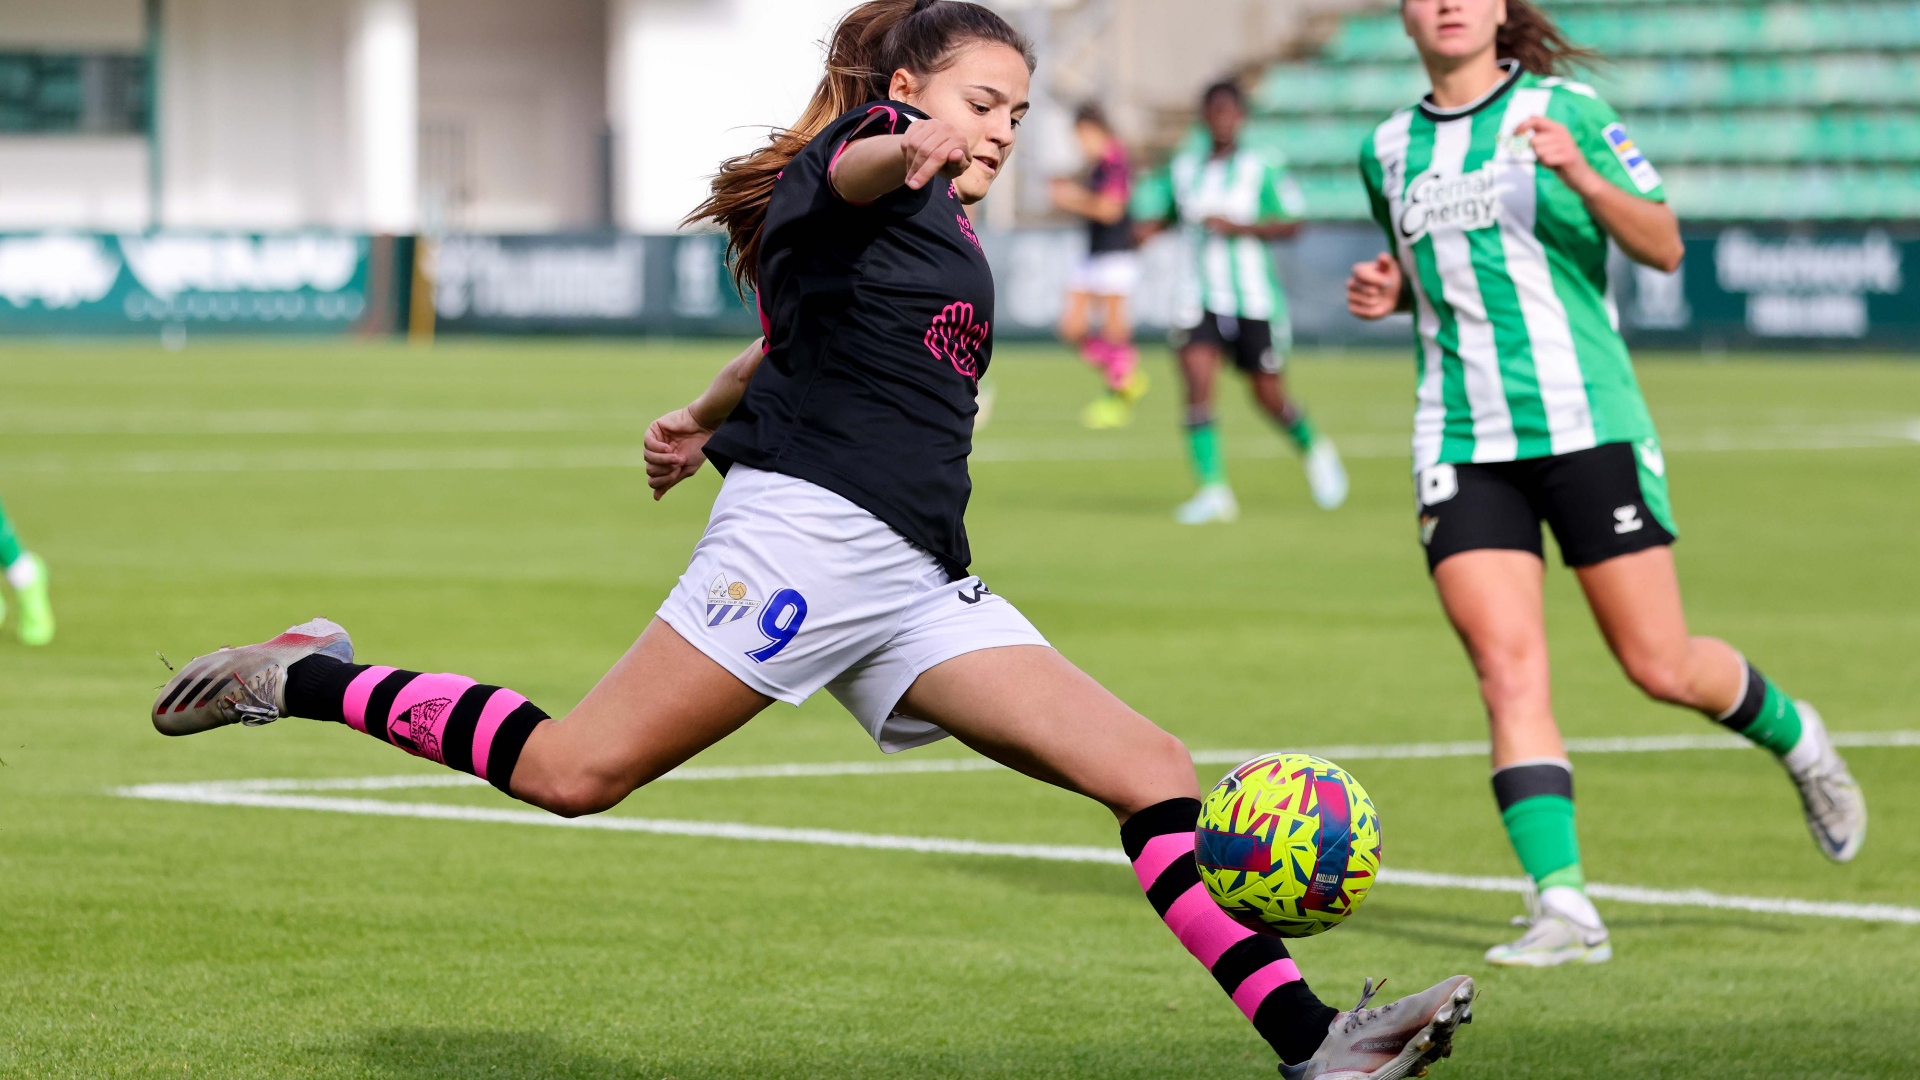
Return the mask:
<path id="1" fill-rule="evenodd" d="M 1359 154 L 1373 217 L 1413 284 L 1413 467 L 1655 438 L 1607 288 L 1607 234 L 1536 163 L 1524 119 L 1565 123 L 1594 167 L 1665 202 L 1592 86 L 1511 63 L 1478 102 L 1402 110 Z"/>

